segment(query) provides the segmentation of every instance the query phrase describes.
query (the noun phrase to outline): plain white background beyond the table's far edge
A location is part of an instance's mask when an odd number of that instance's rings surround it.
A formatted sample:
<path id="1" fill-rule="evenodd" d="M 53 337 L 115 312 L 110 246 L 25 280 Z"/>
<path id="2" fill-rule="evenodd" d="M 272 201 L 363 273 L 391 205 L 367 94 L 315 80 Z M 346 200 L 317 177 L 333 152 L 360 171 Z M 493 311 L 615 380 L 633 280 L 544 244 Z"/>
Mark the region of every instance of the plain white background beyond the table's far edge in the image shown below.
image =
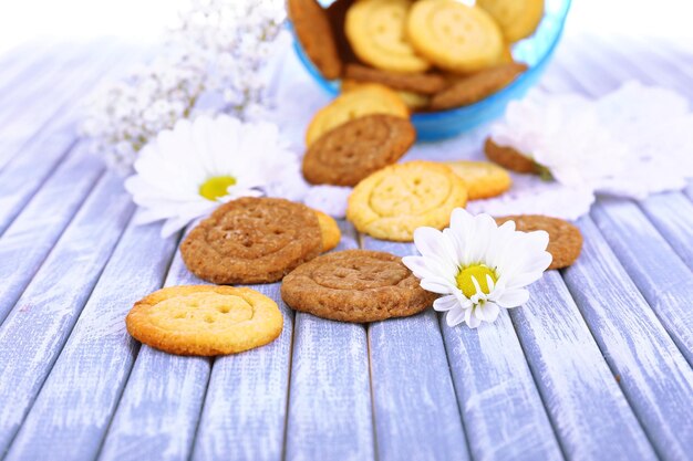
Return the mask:
<path id="1" fill-rule="evenodd" d="M 185 4 L 186 0 L 2 0 L 0 52 L 37 39 L 114 35 L 155 43 Z M 693 0 L 573 0 L 567 33 L 582 31 L 693 43 Z"/>

